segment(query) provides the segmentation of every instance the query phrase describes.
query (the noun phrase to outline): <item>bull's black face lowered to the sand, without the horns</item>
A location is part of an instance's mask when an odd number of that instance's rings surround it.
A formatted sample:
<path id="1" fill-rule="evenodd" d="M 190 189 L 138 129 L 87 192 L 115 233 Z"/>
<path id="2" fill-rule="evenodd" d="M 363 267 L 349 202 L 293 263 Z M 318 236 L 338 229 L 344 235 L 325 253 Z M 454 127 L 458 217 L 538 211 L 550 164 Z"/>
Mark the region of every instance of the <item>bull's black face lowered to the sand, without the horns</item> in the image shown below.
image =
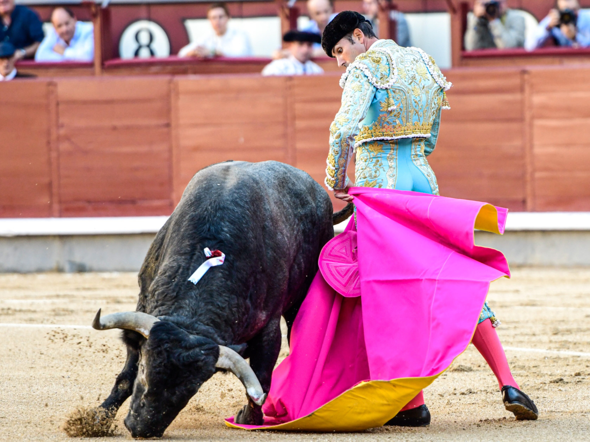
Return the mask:
<path id="1" fill-rule="evenodd" d="M 162 437 L 215 372 L 219 346 L 168 321 L 155 324 L 140 349 L 125 426 L 133 437 Z"/>

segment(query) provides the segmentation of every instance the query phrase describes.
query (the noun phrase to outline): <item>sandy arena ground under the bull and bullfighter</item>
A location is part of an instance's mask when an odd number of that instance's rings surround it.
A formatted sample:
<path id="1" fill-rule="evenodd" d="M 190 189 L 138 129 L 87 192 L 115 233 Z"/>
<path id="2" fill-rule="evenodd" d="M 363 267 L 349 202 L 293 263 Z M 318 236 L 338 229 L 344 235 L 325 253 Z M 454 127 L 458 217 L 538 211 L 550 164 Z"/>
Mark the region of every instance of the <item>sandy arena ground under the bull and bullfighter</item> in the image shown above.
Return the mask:
<path id="1" fill-rule="evenodd" d="M 124 348 L 117 331 L 51 324 L 88 326 L 99 307 L 135 309 L 136 296 L 132 273 L 0 275 L 0 440 L 71 440 L 60 430 L 64 416 L 109 394 Z M 517 422 L 504 410 L 494 375 L 470 346 L 425 390 L 427 428 L 232 430 L 222 418 L 241 408 L 243 388 L 231 375 L 215 375 L 164 440 L 590 441 L 590 269 L 516 269 L 511 281 L 492 285 L 488 299 L 503 322 L 499 334 L 514 377 L 539 407 L 537 421 Z M 124 404 L 119 436 L 109 440 L 130 439 L 126 413 Z"/>

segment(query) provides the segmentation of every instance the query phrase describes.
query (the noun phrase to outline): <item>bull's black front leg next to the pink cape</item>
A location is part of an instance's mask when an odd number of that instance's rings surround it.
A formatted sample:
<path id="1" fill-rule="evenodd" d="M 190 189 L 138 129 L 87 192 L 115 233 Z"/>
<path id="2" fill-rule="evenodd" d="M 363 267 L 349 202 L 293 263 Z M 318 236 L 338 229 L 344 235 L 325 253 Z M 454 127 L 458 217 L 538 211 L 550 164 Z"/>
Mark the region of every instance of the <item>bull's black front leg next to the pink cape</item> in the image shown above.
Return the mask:
<path id="1" fill-rule="evenodd" d="M 250 350 L 250 367 L 260 381 L 263 391 L 268 395 L 274 364 L 281 351 L 281 316 L 271 319 L 258 335 L 248 341 L 248 349 Z M 235 416 L 236 423 L 262 425 L 264 423 L 262 406 L 255 404 L 248 395 L 246 397 L 248 404 L 238 411 Z"/>

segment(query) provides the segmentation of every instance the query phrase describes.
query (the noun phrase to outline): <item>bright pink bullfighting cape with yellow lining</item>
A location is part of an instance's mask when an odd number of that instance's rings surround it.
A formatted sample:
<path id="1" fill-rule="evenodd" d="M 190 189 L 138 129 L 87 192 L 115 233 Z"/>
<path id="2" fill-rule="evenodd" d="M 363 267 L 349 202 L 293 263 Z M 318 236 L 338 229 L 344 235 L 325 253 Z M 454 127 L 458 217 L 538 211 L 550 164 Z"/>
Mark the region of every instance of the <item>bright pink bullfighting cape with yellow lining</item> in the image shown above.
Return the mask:
<path id="1" fill-rule="evenodd" d="M 326 244 L 274 370 L 265 424 L 355 431 L 382 425 L 471 341 L 504 255 L 474 245 L 474 227 L 503 233 L 506 209 L 355 187 L 357 226 Z"/>

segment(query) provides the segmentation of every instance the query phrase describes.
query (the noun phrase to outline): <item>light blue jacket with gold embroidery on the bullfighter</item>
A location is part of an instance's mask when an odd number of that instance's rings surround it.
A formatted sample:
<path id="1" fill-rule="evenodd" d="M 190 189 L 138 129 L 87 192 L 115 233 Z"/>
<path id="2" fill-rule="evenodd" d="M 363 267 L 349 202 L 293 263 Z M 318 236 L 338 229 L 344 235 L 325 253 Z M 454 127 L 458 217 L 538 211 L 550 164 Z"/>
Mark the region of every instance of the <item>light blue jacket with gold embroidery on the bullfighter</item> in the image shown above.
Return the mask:
<path id="1" fill-rule="evenodd" d="M 359 150 L 358 155 L 362 149 L 383 154 L 384 143 L 413 138 L 407 140 L 416 141 L 412 155 L 421 155 L 422 159 L 430 155 L 437 141 L 441 108 L 449 108 L 445 91 L 451 85 L 432 57 L 421 49 L 404 48 L 392 40 L 378 40 L 356 57 L 340 79 L 344 91 L 342 105 L 330 126 L 326 186 L 330 190 L 346 187 L 346 170 L 354 149 Z M 422 159 L 412 160 L 431 181 L 432 192 L 437 193 L 434 174 Z M 383 159 L 375 160 L 373 155 L 371 161 L 374 165 Z M 357 175 L 359 170 L 357 164 Z M 356 184 L 395 188 L 395 177 L 393 184 L 386 185 L 364 178 L 361 184 L 357 176 Z"/>

